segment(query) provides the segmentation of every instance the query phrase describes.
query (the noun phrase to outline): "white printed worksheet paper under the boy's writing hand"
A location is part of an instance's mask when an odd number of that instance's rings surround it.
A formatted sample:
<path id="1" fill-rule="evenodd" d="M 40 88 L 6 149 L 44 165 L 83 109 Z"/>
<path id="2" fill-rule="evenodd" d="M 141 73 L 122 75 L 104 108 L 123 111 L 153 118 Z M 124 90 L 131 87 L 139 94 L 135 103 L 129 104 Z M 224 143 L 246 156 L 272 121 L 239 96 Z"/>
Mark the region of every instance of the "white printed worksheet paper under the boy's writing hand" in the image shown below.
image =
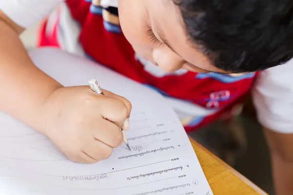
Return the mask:
<path id="1" fill-rule="evenodd" d="M 212 195 L 188 136 L 164 97 L 58 49 L 30 55 L 64 86 L 87 85 L 96 78 L 102 88 L 129 99 L 133 110 L 125 133 L 132 150 L 123 143 L 104 161 L 75 163 L 47 137 L 0 113 L 0 195 Z"/>

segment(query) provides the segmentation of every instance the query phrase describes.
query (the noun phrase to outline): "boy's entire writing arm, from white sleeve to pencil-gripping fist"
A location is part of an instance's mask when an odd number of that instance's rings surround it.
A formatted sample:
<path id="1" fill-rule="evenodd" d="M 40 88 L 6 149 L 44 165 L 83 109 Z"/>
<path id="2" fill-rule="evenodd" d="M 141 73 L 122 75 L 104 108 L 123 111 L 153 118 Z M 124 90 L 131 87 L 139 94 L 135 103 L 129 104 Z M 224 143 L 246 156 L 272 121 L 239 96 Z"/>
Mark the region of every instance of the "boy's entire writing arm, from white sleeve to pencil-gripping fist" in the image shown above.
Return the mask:
<path id="1" fill-rule="evenodd" d="M 59 1 L 0 0 L 0 110 L 39 130 L 70 160 L 96 163 L 122 144 L 131 103 L 88 86 L 62 87 L 33 64 L 18 37 Z"/>

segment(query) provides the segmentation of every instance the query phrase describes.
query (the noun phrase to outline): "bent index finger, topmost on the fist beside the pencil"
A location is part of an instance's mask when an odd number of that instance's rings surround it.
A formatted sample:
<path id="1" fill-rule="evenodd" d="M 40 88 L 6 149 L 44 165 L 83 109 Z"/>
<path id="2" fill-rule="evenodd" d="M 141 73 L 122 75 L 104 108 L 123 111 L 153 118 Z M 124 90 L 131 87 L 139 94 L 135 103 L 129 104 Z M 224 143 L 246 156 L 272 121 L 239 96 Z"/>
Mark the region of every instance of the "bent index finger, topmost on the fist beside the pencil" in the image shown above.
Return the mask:
<path id="1" fill-rule="evenodd" d="M 103 118 L 115 123 L 122 128 L 126 118 L 128 118 L 128 108 L 125 103 L 118 98 L 101 98 L 100 113 Z"/>

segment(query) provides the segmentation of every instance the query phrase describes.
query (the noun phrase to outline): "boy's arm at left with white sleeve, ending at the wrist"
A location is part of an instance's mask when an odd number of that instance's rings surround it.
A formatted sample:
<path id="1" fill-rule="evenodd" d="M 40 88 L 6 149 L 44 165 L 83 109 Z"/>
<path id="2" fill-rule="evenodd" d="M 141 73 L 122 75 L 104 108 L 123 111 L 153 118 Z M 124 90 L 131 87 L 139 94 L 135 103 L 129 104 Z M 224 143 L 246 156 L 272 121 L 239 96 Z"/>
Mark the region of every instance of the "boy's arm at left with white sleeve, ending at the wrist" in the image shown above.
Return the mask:
<path id="1" fill-rule="evenodd" d="M 39 70 L 19 39 L 63 0 L 0 0 L 0 110 L 38 128 L 42 104 L 61 85 Z"/>

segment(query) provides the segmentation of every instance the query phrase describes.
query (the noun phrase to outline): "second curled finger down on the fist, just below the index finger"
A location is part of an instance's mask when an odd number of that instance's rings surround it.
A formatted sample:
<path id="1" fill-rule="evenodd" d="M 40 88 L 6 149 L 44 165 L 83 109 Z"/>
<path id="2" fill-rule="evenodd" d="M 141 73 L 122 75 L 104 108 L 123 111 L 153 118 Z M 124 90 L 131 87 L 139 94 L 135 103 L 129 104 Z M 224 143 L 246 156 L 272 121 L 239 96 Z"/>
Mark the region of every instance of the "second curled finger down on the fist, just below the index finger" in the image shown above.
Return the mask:
<path id="1" fill-rule="evenodd" d="M 97 131 L 98 128 L 92 130 L 92 136 L 95 139 L 100 140 L 111 148 L 118 148 L 123 142 L 124 135 L 116 124 L 109 120 L 100 121 L 99 125 L 100 131 Z M 97 126 L 97 125 L 94 125 Z"/>

